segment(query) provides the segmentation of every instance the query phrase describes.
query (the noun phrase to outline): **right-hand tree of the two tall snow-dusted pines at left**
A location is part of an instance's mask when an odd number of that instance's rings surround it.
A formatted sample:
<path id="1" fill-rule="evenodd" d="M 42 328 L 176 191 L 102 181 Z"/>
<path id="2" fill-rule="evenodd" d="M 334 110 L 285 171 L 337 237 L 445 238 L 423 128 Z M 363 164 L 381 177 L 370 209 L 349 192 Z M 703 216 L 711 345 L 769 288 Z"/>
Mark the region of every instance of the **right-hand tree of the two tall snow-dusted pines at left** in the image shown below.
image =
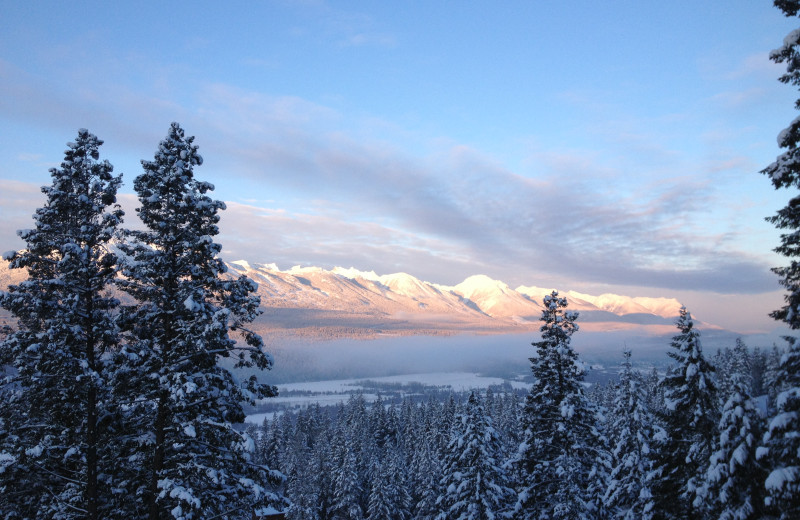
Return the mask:
<path id="1" fill-rule="evenodd" d="M 154 160 L 142 161 L 134 189 L 146 229 L 129 231 L 122 246 L 119 283 L 136 303 L 124 314 L 128 343 L 116 381 L 132 434 L 120 487 L 129 507 L 139 506 L 131 516 L 151 520 L 245 518 L 283 502 L 270 489 L 279 475 L 251 460 L 252 443 L 232 426 L 244 420 L 242 402 L 275 389 L 255 376 L 238 384 L 218 359 L 259 369 L 272 359 L 247 329 L 258 313 L 255 283 L 223 276 L 213 237 L 225 204 L 195 178 L 202 157 L 193 143 L 173 123 Z"/>

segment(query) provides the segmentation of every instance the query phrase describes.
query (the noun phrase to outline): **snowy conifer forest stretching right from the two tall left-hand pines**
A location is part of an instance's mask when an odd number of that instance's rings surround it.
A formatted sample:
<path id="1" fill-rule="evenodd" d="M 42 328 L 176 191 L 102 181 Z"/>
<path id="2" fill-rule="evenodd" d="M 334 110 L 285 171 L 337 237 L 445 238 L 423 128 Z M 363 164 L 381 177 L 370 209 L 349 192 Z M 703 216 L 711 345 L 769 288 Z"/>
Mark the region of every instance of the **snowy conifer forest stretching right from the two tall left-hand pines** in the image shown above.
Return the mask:
<path id="1" fill-rule="evenodd" d="M 256 460 L 287 475 L 289 518 L 797 517 L 797 495 L 777 485 L 791 473 L 792 349 L 738 340 L 712 363 L 682 309 L 666 374 L 634 369 L 625 350 L 619 377 L 587 390 L 570 345 L 577 313 L 555 292 L 544 303 L 523 397 L 357 394 L 249 426 Z"/>

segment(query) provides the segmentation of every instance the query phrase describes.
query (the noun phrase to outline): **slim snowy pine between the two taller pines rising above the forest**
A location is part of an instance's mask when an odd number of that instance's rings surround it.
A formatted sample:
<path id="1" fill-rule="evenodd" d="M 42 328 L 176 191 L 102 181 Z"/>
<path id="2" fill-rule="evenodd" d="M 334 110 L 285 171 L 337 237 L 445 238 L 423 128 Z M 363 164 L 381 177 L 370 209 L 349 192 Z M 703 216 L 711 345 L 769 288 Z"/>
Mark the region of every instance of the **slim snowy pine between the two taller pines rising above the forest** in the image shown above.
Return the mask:
<path id="1" fill-rule="evenodd" d="M 610 410 L 612 467 L 604 501 L 614 518 L 646 520 L 653 469 L 653 438 L 657 427 L 642 393 L 642 377 L 631 366 L 631 351 L 623 352 L 619 385 Z"/>

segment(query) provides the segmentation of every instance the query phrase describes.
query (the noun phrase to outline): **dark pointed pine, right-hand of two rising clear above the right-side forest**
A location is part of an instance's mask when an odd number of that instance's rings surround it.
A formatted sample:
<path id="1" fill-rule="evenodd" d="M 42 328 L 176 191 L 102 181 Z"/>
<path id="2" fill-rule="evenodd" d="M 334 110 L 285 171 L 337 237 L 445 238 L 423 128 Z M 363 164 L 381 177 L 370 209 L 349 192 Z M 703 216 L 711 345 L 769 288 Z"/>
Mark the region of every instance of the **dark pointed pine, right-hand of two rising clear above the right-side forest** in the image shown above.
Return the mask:
<path id="1" fill-rule="evenodd" d="M 705 482 L 717 436 L 717 396 L 714 367 L 703 356 L 700 333 L 682 307 L 669 356 L 676 367 L 667 373 L 662 417 L 667 438 L 659 446 L 658 477 L 652 488 L 655 518 L 702 518 L 705 510 L 698 489 Z"/>

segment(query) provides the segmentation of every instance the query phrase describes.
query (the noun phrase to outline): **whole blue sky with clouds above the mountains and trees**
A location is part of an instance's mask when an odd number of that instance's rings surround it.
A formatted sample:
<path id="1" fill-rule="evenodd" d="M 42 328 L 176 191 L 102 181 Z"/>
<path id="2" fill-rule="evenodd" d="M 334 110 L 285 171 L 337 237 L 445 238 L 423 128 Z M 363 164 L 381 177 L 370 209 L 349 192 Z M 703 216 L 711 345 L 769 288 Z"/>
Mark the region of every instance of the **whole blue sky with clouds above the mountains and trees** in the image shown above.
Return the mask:
<path id="1" fill-rule="evenodd" d="M 226 260 L 678 298 L 767 331 L 761 169 L 796 117 L 768 1 L 0 0 L 0 250 L 79 128 L 133 179 L 173 121 Z"/>

